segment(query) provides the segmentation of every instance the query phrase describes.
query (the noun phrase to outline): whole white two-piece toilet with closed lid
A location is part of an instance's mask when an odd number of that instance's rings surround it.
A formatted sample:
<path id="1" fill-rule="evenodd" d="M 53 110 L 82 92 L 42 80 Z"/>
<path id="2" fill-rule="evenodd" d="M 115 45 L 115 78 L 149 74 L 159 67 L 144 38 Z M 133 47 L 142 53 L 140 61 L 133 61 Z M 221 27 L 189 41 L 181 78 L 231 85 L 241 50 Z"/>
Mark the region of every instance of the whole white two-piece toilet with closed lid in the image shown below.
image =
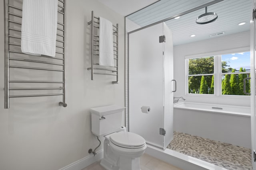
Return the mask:
<path id="1" fill-rule="evenodd" d="M 123 110 L 124 107 L 116 105 L 90 109 L 92 133 L 105 138 L 100 164 L 106 170 L 141 170 L 140 156 L 146 150 L 146 141 L 121 127 Z"/>

